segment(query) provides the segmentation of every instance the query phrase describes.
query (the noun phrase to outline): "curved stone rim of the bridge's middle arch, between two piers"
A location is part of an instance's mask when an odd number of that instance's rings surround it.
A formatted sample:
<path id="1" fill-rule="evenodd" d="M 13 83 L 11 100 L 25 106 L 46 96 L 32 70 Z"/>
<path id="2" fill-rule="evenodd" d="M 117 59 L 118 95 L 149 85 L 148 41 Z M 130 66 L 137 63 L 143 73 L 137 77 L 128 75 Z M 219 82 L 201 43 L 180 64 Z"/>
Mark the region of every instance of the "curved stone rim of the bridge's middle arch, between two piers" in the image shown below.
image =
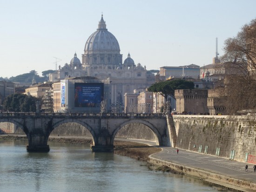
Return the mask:
<path id="1" fill-rule="evenodd" d="M 88 125 L 88 123 L 82 121 L 82 120 L 79 120 L 79 119 L 61 119 L 57 122 L 54 122 L 53 123 L 53 126 L 52 126 L 52 130 L 50 131 L 50 133 L 58 126 L 60 126 L 61 124 L 64 124 L 64 123 L 77 123 L 77 124 L 80 124 L 81 126 L 84 126 L 92 135 L 93 137 L 93 145 L 94 145 L 94 141 L 95 141 L 95 132 L 94 132 L 94 129 Z"/>

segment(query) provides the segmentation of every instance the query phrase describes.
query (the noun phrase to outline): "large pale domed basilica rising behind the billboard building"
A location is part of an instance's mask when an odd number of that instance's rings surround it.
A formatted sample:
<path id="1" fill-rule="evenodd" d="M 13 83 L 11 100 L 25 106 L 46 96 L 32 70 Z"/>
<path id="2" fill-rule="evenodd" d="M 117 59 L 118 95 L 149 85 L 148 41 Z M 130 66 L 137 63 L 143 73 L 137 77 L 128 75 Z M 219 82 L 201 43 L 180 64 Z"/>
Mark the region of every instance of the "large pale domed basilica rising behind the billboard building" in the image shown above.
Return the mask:
<path id="1" fill-rule="evenodd" d="M 123 105 L 124 94 L 134 93 L 135 89 L 145 88 L 155 83 L 155 75 L 146 70 L 140 63 L 135 65 L 128 53 L 122 62 L 120 46 L 115 36 L 107 29 L 106 22 L 101 15 L 97 31 L 92 33 L 85 43 L 81 58 L 76 53 L 70 64 L 59 66 L 55 73 L 49 75 L 52 82 L 70 77 L 91 76 L 110 82 L 108 92 L 104 92 L 104 99 L 110 106 L 117 103 Z"/>

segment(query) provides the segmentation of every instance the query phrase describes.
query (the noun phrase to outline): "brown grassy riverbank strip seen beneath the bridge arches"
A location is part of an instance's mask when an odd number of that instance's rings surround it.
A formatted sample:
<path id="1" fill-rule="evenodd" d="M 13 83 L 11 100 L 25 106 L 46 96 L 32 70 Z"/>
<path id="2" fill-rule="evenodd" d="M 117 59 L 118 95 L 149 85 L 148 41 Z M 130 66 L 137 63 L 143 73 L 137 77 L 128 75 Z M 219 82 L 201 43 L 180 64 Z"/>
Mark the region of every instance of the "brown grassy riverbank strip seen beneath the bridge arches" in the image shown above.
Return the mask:
<path id="1" fill-rule="evenodd" d="M 0 139 L 6 140 L 27 140 L 26 136 L 0 135 Z M 81 138 L 64 138 L 64 137 L 50 137 L 50 142 L 71 143 L 80 145 L 89 145 L 92 143 L 91 139 Z M 148 156 L 155 152 L 160 152 L 160 148 L 148 146 L 146 144 L 130 142 L 130 141 L 114 141 L 114 153 L 118 155 L 127 156 L 133 159 L 148 161 Z"/>

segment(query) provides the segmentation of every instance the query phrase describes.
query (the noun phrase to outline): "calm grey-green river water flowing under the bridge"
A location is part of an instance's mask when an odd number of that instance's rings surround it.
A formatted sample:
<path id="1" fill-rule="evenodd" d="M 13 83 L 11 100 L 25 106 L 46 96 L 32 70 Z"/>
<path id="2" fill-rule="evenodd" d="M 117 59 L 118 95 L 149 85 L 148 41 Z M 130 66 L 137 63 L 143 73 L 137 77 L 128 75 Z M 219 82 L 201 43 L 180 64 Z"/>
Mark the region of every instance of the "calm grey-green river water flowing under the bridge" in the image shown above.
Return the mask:
<path id="1" fill-rule="evenodd" d="M 25 141 L 0 140 L 0 192 L 217 192 L 186 176 L 154 172 L 144 162 L 89 146 L 49 143 L 29 153 Z"/>

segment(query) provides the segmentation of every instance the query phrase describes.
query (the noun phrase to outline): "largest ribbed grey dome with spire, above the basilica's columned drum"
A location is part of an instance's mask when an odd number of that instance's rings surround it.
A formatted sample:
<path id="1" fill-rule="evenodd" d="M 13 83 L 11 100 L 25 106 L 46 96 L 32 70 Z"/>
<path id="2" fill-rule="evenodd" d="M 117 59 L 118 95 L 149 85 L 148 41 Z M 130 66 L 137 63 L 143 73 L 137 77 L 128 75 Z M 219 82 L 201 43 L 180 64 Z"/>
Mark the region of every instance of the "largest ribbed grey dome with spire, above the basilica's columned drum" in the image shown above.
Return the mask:
<path id="1" fill-rule="evenodd" d="M 97 31 L 91 34 L 86 41 L 84 52 L 85 54 L 91 52 L 120 53 L 119 43 L 115 36 L 108 32 L 103 15 L 101 15 Z"/>

